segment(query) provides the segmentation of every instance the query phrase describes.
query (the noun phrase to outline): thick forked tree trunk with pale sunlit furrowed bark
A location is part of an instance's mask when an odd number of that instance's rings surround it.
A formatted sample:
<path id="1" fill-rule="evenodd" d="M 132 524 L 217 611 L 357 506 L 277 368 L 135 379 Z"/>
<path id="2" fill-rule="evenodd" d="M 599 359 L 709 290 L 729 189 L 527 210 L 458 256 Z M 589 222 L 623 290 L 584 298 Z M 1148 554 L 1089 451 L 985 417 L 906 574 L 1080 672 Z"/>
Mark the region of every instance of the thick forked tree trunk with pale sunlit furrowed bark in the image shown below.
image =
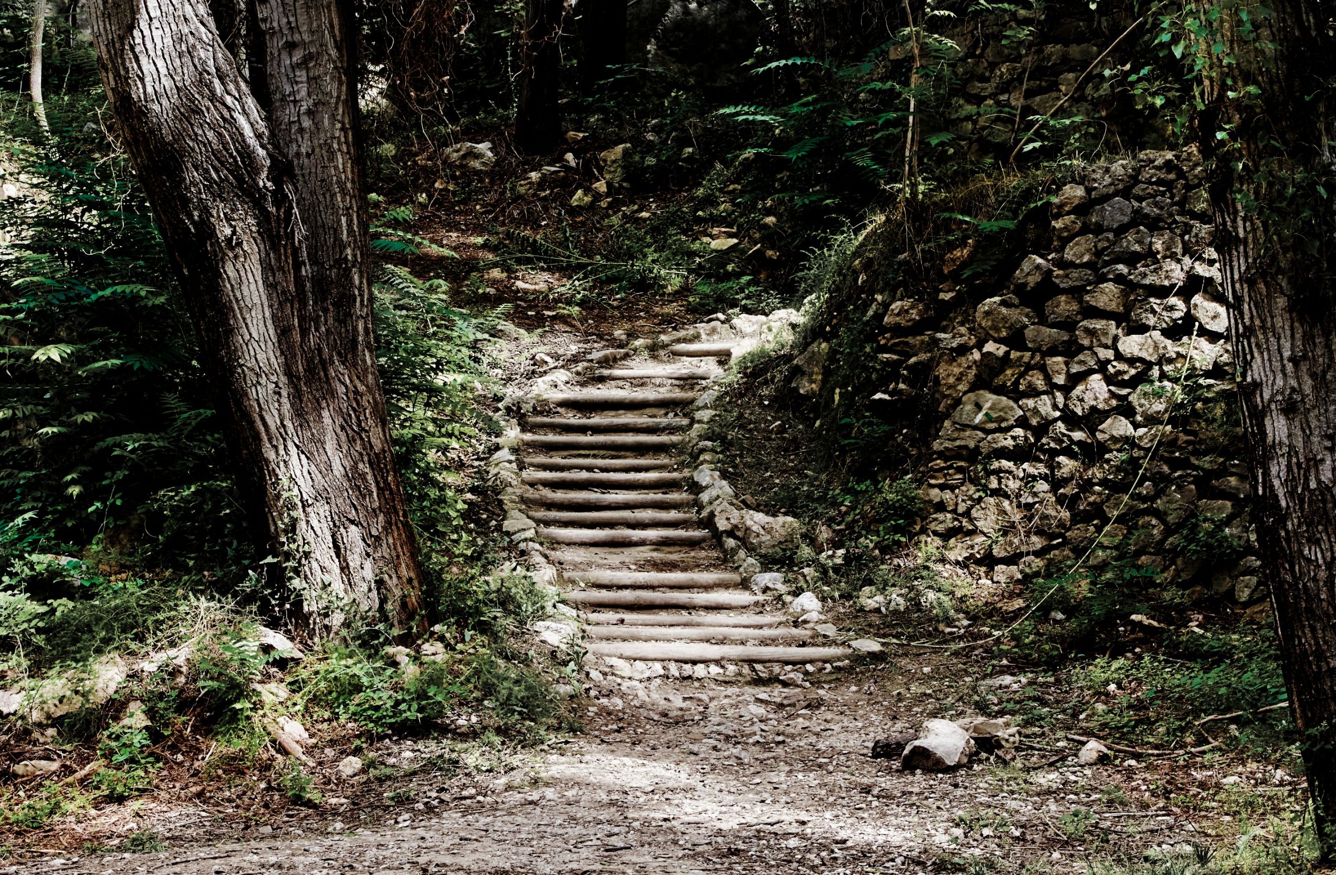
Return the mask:
<path id="1" fill-rule="evenodd" d="M 349 17 L 333 1 L 263 3 L 267 77 L 247 84 L 207 0 L 94 0 L 91 16 L 299 619 L 318 637 L 381 617 L 420 631 L 371 342 Z"/>

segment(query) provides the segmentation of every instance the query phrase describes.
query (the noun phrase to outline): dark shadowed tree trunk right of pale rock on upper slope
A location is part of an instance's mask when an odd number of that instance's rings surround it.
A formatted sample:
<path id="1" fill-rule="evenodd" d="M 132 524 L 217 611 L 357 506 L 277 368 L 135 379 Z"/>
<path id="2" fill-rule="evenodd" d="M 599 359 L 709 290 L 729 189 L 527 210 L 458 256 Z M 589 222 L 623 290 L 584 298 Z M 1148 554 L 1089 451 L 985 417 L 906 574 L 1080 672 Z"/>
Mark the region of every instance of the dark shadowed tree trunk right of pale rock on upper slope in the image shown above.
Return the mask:
<path id="1" fill-rule="evenodd" d="M 565 0 L 528 0 L 520 32 L 520 106 L 514 142 L 521 152 L 546 155 L 561 142 L 557 106 L 561 75 L 561 20 Z"/>

